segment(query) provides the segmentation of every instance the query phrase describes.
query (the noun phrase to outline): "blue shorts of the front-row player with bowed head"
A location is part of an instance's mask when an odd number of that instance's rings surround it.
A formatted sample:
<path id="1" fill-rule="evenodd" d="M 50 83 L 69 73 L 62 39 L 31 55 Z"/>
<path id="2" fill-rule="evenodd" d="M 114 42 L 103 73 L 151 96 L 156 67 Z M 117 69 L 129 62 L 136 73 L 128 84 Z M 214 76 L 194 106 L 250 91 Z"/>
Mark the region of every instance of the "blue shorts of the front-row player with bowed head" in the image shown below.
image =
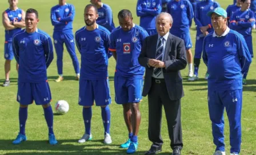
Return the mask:
<path id="1" fill-rule="evenodd" d="M 139 103 L 142 100 L 143 79 L 126 79 L 115 76 L 115 102 L 117 104 Z"/>

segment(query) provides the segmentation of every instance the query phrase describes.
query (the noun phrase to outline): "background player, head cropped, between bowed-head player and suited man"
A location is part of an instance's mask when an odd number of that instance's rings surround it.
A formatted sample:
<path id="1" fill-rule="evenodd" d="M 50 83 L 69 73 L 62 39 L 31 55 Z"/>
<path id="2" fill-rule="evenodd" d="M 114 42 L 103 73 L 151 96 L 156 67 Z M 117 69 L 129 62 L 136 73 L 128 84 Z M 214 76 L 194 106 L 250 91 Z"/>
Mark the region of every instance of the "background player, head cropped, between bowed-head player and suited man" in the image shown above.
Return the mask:
<path id="1" fill-rule="evenodd" d="M 138 0 L 137 16 L 139 26 L 145 28 L 149 35 L 157 34 L 155 28 L 155 18 L 162 11 L 162 0 Z"/>

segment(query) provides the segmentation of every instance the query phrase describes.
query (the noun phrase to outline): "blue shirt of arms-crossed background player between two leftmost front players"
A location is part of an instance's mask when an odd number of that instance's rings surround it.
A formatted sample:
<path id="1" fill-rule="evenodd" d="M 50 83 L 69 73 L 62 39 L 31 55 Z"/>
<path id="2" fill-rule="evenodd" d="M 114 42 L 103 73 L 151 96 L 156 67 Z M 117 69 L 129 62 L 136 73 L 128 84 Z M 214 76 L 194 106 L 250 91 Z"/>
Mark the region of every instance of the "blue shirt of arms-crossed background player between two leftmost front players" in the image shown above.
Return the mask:
<path id="1" fill-rule="evenodd" d="M 55 32 L 72 32 L 74 17 L 75 7 L 71 4 L 66 3 L 51 8 L 51 24 Z M 58 21 L 58 18 L 61 20 Z"/>

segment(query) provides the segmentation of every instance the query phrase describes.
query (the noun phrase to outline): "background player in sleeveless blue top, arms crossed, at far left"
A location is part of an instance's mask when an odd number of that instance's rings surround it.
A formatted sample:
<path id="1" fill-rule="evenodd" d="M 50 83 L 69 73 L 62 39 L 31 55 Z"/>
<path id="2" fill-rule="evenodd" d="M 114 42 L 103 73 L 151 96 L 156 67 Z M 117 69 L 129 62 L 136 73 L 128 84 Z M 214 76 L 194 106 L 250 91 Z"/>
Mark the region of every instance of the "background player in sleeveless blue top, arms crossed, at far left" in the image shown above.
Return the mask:
<path id="1" fill-rule="evenodd" d="M 25 27 L 25 12 L 18 8 L 18 0 L 9 0 L 9 9 L 3 11 L 2 23 L 5 27 L 5 81 L 3 87 L 10 85 L 10 70 L 11 60 L 13 60 L 13 47 L 12 40 L 13 35 L 20 31 L 22 27 Z M 18 71 L 18 63 L 16 63 L 16 69 Z"/>

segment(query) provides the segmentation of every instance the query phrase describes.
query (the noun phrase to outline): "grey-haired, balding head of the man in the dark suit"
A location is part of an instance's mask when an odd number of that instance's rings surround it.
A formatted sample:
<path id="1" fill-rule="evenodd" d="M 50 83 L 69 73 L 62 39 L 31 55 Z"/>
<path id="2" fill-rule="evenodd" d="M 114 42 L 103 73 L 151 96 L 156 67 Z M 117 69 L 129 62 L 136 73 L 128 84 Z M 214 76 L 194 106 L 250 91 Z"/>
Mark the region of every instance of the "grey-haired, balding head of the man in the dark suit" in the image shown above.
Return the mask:
<path id="1" fill-rule="evenodd" d="M 164 36 L 169 33 L 171 26 L 173 25 L 173 17 L 168 13 L 161 13 L 157 16 L 155 21 L 157 32 L 160 36 Z"/>

